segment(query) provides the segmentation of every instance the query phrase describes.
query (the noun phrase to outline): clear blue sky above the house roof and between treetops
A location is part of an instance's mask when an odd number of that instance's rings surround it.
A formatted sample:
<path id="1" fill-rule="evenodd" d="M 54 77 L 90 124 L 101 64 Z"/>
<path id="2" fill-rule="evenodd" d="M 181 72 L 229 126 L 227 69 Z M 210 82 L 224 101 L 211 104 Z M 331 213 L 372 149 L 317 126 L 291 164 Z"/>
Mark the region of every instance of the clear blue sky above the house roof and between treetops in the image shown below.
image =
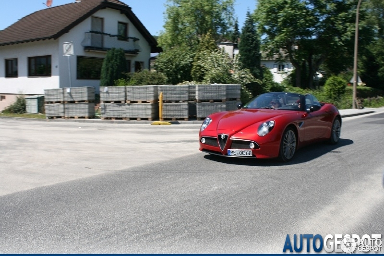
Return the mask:
<path id="1" fill-rule="evenodd" d="M 47 8 L 46 0 L 0 0 L 0 30 L 3 30 L 19 19 L 38 10 Z M 121 0 L 132 8 L 132 12 L 144 24 L 151 35 L 159 35 L 164 30 L 164 4 L 166 0 Z M 52 7 L 73 3 L 75 0 L 52 0 Z M 255 0 L 235 0 L 235 17 L 239 27 L 245 22 L 247 11 L 253 11 Z"/>

